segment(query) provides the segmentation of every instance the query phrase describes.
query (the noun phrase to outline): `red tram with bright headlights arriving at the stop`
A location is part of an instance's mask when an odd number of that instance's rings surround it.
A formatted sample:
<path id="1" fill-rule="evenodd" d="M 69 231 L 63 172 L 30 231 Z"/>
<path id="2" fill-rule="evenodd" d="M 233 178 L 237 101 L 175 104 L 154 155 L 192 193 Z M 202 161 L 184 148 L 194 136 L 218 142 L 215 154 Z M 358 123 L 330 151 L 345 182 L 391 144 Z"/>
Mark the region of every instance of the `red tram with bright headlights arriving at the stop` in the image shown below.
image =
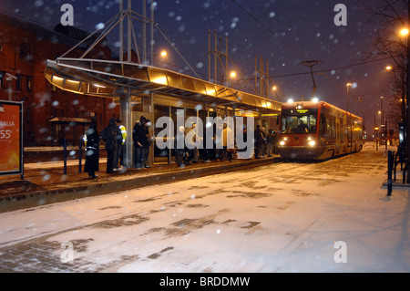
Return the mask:
<path id="1" fill-rule="evenodd" d="M 278 151 L 282 159 L 325 160 L 364 145 L 363 119 L 323 102 L 282 104 Z"/>

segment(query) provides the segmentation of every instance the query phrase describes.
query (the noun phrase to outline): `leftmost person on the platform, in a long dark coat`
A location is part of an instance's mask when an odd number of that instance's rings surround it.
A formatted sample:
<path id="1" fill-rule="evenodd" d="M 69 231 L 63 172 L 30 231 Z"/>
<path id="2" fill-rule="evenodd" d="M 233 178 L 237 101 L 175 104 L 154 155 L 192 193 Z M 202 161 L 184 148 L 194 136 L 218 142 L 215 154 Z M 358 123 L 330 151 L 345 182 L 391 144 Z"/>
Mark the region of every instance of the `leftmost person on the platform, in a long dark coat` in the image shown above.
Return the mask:
<path id="1" fill-rule="evenodd" d="M 86 165 L 84 171 L 91 178 L 97 178 L 96 171 L 99 170 L 99 135 L 97 132 L 97 123 L 93 120 L 86 132 Z"/>

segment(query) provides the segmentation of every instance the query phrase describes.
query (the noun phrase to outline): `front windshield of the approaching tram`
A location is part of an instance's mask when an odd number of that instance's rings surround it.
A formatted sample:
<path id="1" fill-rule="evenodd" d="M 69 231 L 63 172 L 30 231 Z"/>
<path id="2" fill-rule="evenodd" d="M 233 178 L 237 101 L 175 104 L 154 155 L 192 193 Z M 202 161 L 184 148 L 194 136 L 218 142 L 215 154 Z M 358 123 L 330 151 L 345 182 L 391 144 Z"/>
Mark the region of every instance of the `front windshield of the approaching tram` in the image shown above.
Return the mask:
<path id="1" fill-rule="evenodd" d="M 316 133 L 317 109 L 282 110 L 282 133 Z"/>

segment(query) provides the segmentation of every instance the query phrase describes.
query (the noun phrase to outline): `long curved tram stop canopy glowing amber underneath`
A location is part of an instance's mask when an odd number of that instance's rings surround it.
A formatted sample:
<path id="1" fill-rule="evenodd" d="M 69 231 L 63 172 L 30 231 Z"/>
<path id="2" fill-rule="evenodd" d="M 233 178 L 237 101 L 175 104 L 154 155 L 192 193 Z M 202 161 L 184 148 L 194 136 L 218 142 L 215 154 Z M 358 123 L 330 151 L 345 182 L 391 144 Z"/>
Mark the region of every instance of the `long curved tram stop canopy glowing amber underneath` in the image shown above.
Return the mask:
<path id="1" fill-rule="evenodd" d="M 159 95 L 206 102 L 214 106 L 279 114 L 282 103 L 213 84 L 163 68 L 138 63 L 90 58 L 47 60 L 46 79 L 66 91 L 102 98 Z"/>

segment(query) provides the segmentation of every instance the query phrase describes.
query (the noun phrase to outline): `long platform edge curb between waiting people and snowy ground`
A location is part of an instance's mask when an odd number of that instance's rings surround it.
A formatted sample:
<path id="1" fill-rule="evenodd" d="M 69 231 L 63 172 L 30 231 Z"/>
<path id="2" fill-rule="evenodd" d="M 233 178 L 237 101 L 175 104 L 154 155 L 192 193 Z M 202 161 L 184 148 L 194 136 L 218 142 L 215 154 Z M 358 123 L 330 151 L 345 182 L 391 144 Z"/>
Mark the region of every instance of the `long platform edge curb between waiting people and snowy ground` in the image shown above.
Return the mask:
<path id="1" fill-rule="evenodd" d="M 220 174 L 228 171 L 241 171 L 252 167 L 272 164 L 282 161 L 280 158 L 267 158 L 261 160 L 243 161 L 234 164 L 218 166 L 204 166 L 196 169 L 183 169 L 168 171 L 165 173 L 152 173 L 149 176 L 131 177 L 122 181 L 97 182 L 80 184 L 67 187 L 56 187 L 45 191 L 15 194 L 0 198 L 0 213 L 22 210 L 36 206 L 44 206 L 51 203 L 62 203 L 86 197 L 108 194 L 112 192 L 127 191 L 138 187 L 152 186 L 166 182 L 177 182 L 192 178 L 200 178 L 212 174 Z M 28 211 L 28 210 L 27 210 Z"/>

